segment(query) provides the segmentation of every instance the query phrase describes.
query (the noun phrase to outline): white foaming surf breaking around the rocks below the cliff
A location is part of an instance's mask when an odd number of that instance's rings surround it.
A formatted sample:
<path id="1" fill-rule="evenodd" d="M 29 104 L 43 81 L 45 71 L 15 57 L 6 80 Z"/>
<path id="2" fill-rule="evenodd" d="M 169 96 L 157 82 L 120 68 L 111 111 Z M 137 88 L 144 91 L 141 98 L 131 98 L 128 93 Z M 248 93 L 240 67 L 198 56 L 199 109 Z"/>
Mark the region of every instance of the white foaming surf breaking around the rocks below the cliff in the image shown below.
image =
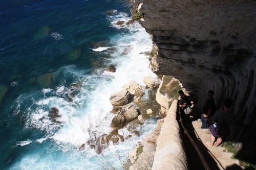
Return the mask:
<path id="1" fill-rule="evenodd" d="M 129 20 L 130 18 L 125 13 L 116 12 L 108 19 L 111 27 L 119 29 L 120 27 L 115 24 L 116 21 Z M 113 108 L 109 100 L 111 94 L 121 90 L 124 84 L 129 84 L 132 80 L 145 86 L 143 83 L 144 76 L 156 77 L 149 67 L 147 56 L 140 54 L 151 50 L 152 40 L 150 36 L 138 23 L 123 26 L 123 28 L 127 29 L 129 33 L 121 33 L 111 39 L 111 43 L 115 44 L 116 51 L 111 54 L 111 59 L 105 60 L 106 65 L 116 64 L 114 74 L 102 74 L 101 69 L 99 69 L 88 75 L 86 71 L 76 71 L 74 65 L 61 67 L 55 72 L 55 76 L 61 72 L 76 76 L 77 81 L 82 84 L 79 89 L 80 93 L 72 102 L 68 102 L 62 96 L 62 94 L 67 93 L 67 87 L 59 86 L 56 89 L 41 90 L 45 98 L 35 101 L 34 107 L 36 109 L 28 111 L 26 127 L 33 127 L 46 132 L 48 136 L 51 136 L 49 138 L 55 141 L 56 149 L 49 150 L 48 147 L 41 147 L 36 151 L 31 151 L 19 162 L 13 164 L 11 168 L 102 169 L 102 166 L 109 167 L 109 164 L 105 163 L 105 159 L 96 154 L 88 145 L 82 152 L 78 151 L 77 148 L 94 135 L 100 136 L 112 131 L 110 124 L 114 115 L 110 113 Z M 108 47 L 96 48 L 98 50 L 94 49 L 94 51 L 100 52 L 106 48 Z M 123 55 L 124 52 L 125 55 Z M 48 96 L 49 94 L 54 96 Z M 56 119 L 61 123 L 52 122 L 49 115 L 52 107 L 58 108 L 59 117 Z M 127 153 L 133 149 L 137 141 L 156 127 L 156 119 L 154 118 L 143 121 L 144 125 L 136 127 L 140 131 L 140 136 L 133 135 L 132 138 L 125 139 L 124 142 L 117 145 L 110 143 L 109 147 L 103 151 L 104 157 L 116 169 L 121 168 L 121 164 L 116 161 L 118 159 L 117 154 L 122 159 L 126 159 Z M 119 130 L 119 134 L 125 137 L 131 132 L 123 128 Z M 36 141 L 43 145 L 46 142 L 42 141 L 45 140 L 45 138 L 41 138 Z M 47 154 L 44 155 L 43 153 Z"/>

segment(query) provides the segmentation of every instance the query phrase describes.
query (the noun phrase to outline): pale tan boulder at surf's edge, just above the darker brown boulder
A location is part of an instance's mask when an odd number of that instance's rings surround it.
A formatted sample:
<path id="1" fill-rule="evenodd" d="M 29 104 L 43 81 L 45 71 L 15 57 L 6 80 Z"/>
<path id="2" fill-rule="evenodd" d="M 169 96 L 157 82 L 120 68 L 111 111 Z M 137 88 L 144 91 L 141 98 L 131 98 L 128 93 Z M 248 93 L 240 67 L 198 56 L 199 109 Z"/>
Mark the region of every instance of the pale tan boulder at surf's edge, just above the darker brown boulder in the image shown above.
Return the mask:
<path id="1" fill-rule="evenodd" d="M 116 92 L 110 97 L 110 103 L 113 106 L 123 106 L 130 102 L 131 102 L 131 93 L 127 90 Z"/>

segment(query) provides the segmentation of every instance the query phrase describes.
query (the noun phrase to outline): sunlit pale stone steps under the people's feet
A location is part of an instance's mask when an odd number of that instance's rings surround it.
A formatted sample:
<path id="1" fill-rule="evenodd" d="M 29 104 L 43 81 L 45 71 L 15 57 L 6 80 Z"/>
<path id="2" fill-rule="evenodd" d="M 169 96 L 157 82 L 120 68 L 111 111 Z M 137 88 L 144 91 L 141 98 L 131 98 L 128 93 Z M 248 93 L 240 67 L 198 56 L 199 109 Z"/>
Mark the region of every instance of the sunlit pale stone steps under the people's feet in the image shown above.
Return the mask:
<path id="1" fill-rule="evenodd" d="M 201 129 L 202 123 L 201 123 L 200 119 L 193 121 L 192 125 L 194 127 L 194 132 L 195 132 L 196 138 L 202 142 L 202 143 L 199 142 L 200 144 L 198 144 L 201 152 L 203 153 L 203 155 L 206 155 L 206 154 L 208 155 L 208 157 L 205 156 L 205 159 L 210 167 L 212 164 L 211 162 L 213 162 L 213 160 L 215 161 L 215 164 L 218 166 L 219 169 L 226 169 L 228 166 L 230 167 L 231 165 L 240 166 L 239 160 L 232 159 L 231 158 L 232 153 L 227 152 L 227 150 L 225 148 L 223 148 L 221 146 L 208 147 L 205 144 L 206 141 L 210 141 L 211 133 L 210 133 L 209 129 Z M 189 130 L 189 131 L 191 132 L 191 130 Z M 209 159 L 211 159 L 211 161 Z M 216 169 L 216 167 L 215 168 L 211 167 L 211 168 Z M 241 167 L 241 168 L 243 168 L 243 167 Z"/>

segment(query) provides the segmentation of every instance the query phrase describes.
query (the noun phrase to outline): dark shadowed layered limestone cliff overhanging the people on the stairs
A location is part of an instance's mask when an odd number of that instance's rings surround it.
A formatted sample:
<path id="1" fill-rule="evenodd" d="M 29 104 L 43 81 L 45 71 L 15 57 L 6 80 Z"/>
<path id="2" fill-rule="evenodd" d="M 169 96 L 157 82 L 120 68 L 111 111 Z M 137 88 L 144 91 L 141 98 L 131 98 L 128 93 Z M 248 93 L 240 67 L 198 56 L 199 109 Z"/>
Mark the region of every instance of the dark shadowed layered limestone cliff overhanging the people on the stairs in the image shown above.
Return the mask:
<path id="1" fill-rule="evenodd" d="M 218 107 L 221 99 L 232 98 L 237 120 L 256 128 L 256 2 L 135 3 L 144 14 L 141 25 L 153 35 L 153 71 L 179 79 L 201 105 L 209 89 L 215 90 Z"/>

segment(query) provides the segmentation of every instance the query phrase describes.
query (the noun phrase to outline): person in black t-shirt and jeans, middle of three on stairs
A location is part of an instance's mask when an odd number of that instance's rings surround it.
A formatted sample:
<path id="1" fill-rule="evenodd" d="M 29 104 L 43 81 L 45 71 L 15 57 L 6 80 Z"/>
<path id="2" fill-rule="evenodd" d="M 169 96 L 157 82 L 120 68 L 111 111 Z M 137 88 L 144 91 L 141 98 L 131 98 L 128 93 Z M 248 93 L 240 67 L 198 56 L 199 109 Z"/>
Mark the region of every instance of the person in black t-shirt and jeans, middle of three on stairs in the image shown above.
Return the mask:
<path id="1" fill-rule="evenodd" d="M 209 117 L 212 116 L 216 111 L 216 105 L 213 96 L 214 91 L 209 90 L 207 93 L 207 100 L 204 104 L 203 113 L 201 115 L 202 129 L 207 129 L 209 127 Z"/>

